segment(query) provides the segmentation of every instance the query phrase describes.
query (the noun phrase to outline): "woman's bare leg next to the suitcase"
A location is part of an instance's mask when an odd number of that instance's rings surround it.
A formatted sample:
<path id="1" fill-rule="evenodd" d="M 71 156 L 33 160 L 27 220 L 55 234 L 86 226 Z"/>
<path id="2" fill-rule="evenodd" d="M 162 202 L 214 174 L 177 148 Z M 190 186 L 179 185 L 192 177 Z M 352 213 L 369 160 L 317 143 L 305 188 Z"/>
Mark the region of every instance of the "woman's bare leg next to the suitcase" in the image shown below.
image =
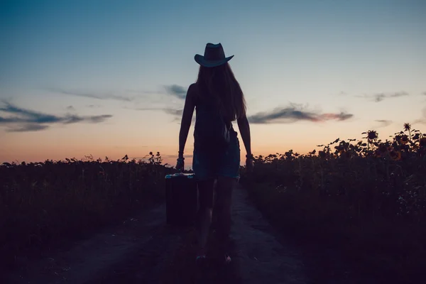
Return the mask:
<path id="1" fill-rule="evenodd" d="M 214 179 L 198 181 L 200 208 L 197 214 L 198 256 L 206 253 L 207 237 L 212 223 Z"/>

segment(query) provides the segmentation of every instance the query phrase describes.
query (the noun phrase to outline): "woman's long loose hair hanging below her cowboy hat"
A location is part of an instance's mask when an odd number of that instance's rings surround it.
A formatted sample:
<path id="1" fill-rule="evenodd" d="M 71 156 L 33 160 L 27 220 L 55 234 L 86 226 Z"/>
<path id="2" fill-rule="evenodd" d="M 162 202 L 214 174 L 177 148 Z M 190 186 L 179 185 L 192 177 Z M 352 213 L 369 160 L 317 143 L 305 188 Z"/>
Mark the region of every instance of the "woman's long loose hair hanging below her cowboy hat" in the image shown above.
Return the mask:
<path id="1" fill-rule="evenodd" d="M 197 85 L 201 99 L 203 96 L 212 95 L 225 119 L 234 121 L 246 116 L 246 100 L 228 62 L 218 67 L 200 65 Z"/>

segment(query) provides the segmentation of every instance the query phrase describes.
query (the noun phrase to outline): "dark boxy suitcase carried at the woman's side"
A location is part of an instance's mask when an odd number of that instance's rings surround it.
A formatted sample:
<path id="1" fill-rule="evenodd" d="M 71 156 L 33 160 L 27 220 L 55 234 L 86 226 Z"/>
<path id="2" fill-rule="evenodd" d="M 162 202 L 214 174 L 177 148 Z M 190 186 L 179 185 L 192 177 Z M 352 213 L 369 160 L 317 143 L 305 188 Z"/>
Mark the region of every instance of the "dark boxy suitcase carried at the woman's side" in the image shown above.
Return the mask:
<path id="1" fill-rule="evenodd" d="M 193 174 L 165 176 L 166 222 L 175 226 L 193 226 L 198 209 L 197 181 Z"/>

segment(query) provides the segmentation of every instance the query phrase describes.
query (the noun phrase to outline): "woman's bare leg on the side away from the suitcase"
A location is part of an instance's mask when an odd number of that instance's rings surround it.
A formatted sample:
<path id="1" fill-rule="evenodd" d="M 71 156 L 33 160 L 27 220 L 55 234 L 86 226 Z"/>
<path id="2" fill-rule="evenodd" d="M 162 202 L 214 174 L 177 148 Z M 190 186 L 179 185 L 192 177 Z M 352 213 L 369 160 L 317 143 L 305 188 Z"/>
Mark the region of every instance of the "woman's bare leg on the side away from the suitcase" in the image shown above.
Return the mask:
<path id="1" fill-rule="evenodd" d="M 229 232 L 231 231 L 231 204 L 232 191 L 237 183 L 236 178 L 220 177 L 217 178 L 217 240 L 219 244 L 226 248 Z"/>

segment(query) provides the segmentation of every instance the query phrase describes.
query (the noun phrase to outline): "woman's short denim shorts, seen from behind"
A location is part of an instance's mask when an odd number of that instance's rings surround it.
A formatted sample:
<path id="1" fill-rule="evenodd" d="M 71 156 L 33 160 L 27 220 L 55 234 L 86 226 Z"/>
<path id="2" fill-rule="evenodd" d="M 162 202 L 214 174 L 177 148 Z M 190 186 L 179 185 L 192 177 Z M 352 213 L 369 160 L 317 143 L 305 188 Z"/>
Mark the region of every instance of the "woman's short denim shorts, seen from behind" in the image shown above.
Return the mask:
<path id="1" fill-rule="evenodd" d="M 195 178 L 198 180 L 207 180 L 218 176 L 239 178 L 241 150 L 237 136 L 236 131 L 231 131 L 229 146 L 226 151 L 219 155 L 197 151 L 197 148 L 195 148 L 192 158 L 192 170 L 194 170 Z"/>

